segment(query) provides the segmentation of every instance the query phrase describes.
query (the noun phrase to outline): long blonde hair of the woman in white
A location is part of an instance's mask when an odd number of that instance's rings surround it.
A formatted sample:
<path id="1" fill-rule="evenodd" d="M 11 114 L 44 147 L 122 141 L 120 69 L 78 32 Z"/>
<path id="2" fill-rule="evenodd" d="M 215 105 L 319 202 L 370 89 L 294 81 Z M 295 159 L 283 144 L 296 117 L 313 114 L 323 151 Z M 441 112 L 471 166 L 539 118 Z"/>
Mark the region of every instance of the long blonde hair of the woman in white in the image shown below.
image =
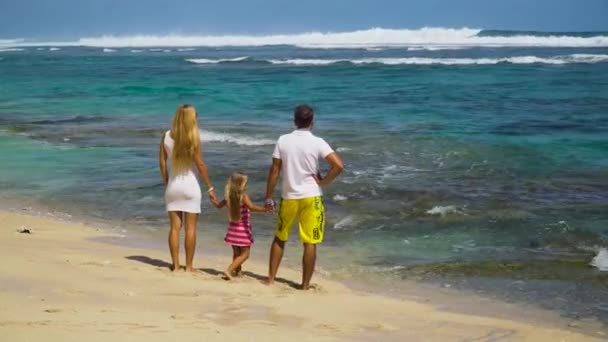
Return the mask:
<path id="1" fill-rule="evenodd" d="M 171 126 L 171 138 L 175 141 L 171 153 L 171 170 L 184 172 L 192 167 L 196 151 L 200 148 L 196 109 L 184 104 L 177 108 Z"/>

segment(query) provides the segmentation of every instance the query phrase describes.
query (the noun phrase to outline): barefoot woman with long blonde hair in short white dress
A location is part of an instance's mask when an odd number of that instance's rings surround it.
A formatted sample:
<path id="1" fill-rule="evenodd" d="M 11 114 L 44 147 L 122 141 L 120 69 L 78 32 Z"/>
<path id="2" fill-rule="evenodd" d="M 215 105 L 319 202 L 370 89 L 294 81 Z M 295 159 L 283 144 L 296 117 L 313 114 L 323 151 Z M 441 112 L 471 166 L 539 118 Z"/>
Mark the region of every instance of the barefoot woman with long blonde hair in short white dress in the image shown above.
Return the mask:
<path id="1" fill-rule="evenodd" d="M 216 199 L 203 161 L 196 116 L 193 106 L 179 106 L 171 130 L 165 132 L 160 142 L 160 173 L 167 187 L 165 204 L 171 225 L 169 250 L 173 271 L 180 269 L 179 232 L 182 224 L 186 227 L 186 271 L 194 270 L 192 260 L 196 247 L 196 222 L 201 212 L 201 188 L 194 174 L 195 169 L 207 186 L 209 197 Z"/>

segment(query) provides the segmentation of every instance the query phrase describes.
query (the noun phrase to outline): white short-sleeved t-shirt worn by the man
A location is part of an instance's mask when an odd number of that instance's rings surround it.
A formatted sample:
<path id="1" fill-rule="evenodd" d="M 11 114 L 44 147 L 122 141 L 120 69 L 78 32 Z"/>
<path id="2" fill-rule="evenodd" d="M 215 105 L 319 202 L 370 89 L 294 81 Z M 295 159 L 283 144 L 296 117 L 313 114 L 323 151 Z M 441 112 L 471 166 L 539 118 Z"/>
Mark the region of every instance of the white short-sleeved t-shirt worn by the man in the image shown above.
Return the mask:
<path id="1" fill-rule="evenodd" d="M 282 135 L 272 157 L 281 159 L 283 198 L 299 199 L 323 195 L 313 176 L 319 171 L 319 158 L 325 158 L 333 152 L 325 140 L 314 136 L 308 129 Z"/>

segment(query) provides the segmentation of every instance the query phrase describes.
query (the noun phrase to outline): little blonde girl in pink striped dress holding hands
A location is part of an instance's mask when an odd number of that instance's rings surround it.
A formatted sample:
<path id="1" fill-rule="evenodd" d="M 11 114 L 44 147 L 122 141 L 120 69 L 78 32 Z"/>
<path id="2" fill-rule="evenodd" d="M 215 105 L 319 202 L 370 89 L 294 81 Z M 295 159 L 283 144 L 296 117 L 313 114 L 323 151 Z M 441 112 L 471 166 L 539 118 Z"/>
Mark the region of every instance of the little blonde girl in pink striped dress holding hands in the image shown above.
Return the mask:
<path id="1" fill-rule="evenodd" d="M 226 183 L 224 199 L 217 201 L 211 199 L 216 208 L 228 207 L 228 232 L 224 242 L 232 245 L 232 263 L 224 272 L 228 280 L 233 275 L 240 275 L 241 265 L 249 258 L 249 249 L 253 244 L 251 229 L 251 211 L 267 212 L 264 207 L 258 207 L 251 202 L 247 195 L 247 176 L 235 172 Z"/>

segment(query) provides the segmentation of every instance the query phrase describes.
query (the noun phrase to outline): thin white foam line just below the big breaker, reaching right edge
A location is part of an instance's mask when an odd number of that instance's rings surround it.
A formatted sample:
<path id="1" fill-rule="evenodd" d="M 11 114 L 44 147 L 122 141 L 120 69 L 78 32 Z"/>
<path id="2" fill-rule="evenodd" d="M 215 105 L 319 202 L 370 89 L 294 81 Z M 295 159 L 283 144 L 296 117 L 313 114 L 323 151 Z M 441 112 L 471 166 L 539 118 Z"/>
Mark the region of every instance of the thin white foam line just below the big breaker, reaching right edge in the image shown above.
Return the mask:
<path id="1" fill-rule="evenodd" d="M 572 54 L 553 57 L 514 56 L 504 58 L 360 58 L 360 59 L 269 59 L 272 64 L 286 65 L 330 65 L 336 63 L 351 64 L 384 64 L 384 65 L 492 65 L 492 64 L 570 64 L 570 63 L 605 63 L 608 55 L 599 54 Z"/>

